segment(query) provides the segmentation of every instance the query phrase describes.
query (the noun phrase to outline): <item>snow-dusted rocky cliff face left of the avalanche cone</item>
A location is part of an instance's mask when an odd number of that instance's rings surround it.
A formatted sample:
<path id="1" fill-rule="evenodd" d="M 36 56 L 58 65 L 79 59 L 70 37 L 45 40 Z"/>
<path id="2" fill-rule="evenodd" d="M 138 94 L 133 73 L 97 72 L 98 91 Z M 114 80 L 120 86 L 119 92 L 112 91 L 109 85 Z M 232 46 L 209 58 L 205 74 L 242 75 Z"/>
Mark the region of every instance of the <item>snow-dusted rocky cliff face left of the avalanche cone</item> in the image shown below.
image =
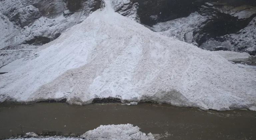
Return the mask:
<path id="1" fill-rule="evenodd" d="M 40 45 L 103 7 L 103 0 L 0 0 L 0 67 L 34 57 Z"/>

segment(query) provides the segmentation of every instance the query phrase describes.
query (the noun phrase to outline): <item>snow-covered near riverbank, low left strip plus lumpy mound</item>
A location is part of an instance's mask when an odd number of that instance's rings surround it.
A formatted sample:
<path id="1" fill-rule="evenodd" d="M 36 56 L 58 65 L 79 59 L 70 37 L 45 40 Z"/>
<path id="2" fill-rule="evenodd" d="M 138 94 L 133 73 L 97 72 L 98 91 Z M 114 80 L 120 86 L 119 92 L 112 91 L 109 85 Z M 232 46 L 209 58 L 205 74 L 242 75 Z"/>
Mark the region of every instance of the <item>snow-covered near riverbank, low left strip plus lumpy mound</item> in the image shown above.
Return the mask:
<path id="1" fill-rule="evenodd" d="M 139 131 L 138 126 L 132 124 L 101 125 L 94 130 L 85 132 L 81 137 L 38 137 L 35 133 L 26 133 L 28 140 L 155 140 L 153 134 Z M 23 138 L 12 139 L 23 140 Z"/>

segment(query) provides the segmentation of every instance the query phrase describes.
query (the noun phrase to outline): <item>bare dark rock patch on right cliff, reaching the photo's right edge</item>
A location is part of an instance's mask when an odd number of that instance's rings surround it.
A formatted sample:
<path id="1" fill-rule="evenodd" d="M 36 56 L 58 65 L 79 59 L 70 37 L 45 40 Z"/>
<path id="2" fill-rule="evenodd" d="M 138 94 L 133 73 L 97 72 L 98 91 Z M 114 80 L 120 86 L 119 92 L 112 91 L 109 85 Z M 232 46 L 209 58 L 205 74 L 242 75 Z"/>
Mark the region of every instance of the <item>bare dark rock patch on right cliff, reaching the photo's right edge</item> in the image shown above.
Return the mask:
<path id="1" fill-rule="evenodd" d="M 207 17 L 207 20 L 193 33 L 194 40 L 199 46 L 210 38 L 217 39 L 220 36 L 238 32 L 245 28 L 252 18 L 256 16 L 253 15 L 248 19 L 238 19 L 237 17 L 221 13 L 216 9 L 208 7 L 201 8 L 199 13 Z M 218 39 L 221 40 L 221 38 Z"/>

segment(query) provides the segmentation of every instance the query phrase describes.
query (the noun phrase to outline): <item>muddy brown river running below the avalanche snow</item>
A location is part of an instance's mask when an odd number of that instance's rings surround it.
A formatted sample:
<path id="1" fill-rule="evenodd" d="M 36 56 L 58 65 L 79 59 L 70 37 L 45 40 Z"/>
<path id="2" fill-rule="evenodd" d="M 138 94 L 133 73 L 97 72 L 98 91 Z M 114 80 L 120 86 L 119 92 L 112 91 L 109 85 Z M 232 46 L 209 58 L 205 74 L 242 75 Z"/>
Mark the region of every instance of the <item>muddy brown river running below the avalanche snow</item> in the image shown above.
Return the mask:
<path id="1" fill-rule="evenodd" d="M 24 133 L 49 129 L 58 130 L 50 135 L 79 135 L 100 125 L 127 123 L 140 127 L 141 132 L 159 134 L 160 140 L 256 139 L 256 111 L 201 111 L 154 103 L 0 105 L 0 139 L 20 134 L 19 125 L 24 126 Z"/>

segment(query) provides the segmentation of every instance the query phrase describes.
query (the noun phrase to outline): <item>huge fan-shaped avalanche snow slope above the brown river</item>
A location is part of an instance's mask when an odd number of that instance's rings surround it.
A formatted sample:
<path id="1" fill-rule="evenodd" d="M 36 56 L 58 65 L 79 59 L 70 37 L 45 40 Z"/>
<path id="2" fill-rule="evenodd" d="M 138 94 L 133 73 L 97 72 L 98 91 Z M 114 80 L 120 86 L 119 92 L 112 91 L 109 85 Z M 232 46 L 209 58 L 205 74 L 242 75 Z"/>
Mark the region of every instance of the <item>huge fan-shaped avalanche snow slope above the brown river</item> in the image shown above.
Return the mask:
<path id="1" fill-rule="evenodd" d="M 255 70 L 153 32 L 105 3 L 38 57 L 1 75 L 0 102 L 115 97 L 215 110 L 256 106 Z"/>

